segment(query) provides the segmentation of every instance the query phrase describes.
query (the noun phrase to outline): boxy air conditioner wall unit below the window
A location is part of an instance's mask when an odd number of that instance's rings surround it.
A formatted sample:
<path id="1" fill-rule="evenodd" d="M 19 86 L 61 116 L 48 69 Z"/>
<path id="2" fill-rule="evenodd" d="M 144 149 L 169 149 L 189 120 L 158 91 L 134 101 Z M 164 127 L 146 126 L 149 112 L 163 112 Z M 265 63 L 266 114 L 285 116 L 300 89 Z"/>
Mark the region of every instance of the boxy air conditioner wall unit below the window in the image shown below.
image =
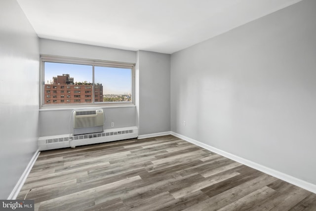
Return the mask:
<path id="1" fill-rule="evenodd" d="M 74 115 L 74 135 L 103 132 L 104 114 L 102 109 L 76 110 Z"/>

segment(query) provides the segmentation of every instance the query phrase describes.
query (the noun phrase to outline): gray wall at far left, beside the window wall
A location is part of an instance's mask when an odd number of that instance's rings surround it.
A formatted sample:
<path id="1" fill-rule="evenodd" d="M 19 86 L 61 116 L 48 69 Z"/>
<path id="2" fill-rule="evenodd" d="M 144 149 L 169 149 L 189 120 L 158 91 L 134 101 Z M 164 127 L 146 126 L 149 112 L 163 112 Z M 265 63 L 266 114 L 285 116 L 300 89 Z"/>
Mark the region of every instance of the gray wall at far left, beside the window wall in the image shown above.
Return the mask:
<path id="1" fill-rule="evenodd" d="M 39 40 L 15 0 L 0 1 L 0 199 L 38 149 Z"/>

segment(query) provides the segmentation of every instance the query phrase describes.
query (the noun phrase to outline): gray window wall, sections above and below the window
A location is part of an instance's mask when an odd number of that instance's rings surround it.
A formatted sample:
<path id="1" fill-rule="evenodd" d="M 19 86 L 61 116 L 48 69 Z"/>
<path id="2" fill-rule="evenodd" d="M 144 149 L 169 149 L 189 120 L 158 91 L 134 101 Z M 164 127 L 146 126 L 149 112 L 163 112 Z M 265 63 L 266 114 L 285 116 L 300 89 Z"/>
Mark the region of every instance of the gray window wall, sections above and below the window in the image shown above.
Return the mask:
<path id="1" fill-rule="evenodd" d="M 135 51 L 46 39 L 40 39 L 40 54 L 136 63 Z M 68 134 L 72 110 L 40 110 L 40 136 Z M 135 106 L 103 110 L 107 118 L 105 129 L 136 125 Z M 111 122 L 114 122 L 115 127 L 111 127 Z"/>

